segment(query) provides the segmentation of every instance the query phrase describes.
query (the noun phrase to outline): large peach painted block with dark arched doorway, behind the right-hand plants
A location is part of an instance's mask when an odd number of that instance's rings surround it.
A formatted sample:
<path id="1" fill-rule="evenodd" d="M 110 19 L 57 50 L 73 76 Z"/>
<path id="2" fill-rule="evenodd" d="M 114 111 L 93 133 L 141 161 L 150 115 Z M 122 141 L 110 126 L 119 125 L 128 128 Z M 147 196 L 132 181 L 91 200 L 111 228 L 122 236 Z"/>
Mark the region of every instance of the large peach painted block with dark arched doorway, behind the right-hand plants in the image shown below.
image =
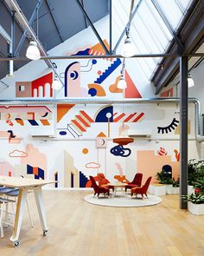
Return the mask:
<path id="1" fill-rule="evenodd" d="M 166 164 L 172 167 L 172 177 L 175 181 L 179 175 L 179 162 L 171 161 L 170 155 L 156 155 L 152 150 L 137 151 L 137 172 L 143 174 L 143 181 L 146 181 L 149 176 L 152 176 L 151 182 L 158 182 L 156 180 L 156 173 L 162 170 Z"/>

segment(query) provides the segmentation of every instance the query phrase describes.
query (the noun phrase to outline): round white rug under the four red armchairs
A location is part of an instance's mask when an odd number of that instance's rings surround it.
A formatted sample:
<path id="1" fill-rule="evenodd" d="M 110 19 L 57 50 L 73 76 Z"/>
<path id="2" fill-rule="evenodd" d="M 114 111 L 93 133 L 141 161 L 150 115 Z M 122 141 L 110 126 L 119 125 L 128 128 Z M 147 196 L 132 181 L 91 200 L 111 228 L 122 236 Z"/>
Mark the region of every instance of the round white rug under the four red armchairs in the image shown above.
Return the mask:
<path id="1" fill-rule="evenodd" d="M 118 194 L 115 197 L 104 197 L 103 194 L 97 198 L 93 194 L 87 194 L 84 198 L 86 202 L 104 207 L 149 207 L 161 203 L 162 199 L 156 195 L 148 194 L 148 198 L 142 199 L 140 195 L 137 198 L 131 198 L 131 194 Z"/>

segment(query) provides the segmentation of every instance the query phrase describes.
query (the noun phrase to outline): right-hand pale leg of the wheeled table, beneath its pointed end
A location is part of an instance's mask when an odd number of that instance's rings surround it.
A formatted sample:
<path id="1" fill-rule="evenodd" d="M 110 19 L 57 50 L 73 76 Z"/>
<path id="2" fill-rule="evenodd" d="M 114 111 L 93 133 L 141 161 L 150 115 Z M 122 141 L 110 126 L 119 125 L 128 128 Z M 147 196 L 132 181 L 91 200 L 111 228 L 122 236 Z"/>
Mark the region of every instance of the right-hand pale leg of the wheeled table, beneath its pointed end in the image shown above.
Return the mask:
<path id="1" fill-rule="evenodd" d="M 41 187 L 35 187 L 34 193 L 35 193 L 35 201 L 36 201 L 38 213 L 41 220 L 41 228 L 43 231 L 43 235 L 45 236 L 48 232 L 48 226 L 47 226 L 47 220 L 46 220 L 44 201 L 41 193 Z"/>

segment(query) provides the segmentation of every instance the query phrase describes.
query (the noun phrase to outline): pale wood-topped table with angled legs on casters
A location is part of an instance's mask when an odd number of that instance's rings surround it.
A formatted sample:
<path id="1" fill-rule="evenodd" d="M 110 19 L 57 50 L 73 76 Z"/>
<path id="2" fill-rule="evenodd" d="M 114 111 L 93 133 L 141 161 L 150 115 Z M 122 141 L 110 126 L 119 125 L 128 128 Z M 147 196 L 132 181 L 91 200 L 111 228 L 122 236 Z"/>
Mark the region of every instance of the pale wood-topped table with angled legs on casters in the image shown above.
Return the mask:
<path id="1" fill-rule="evenodd" d="M 12 236 L 10 237 L 10 240 L 13 242 L 14 246 L 19 245 L 18 239 L 19 239 L 19 234 L 22 226 L 22 216 L 23 216 L 25 202 L 27 199 L 27 194 L 29 189 L 34 190 L 35 201 L 36 201 L 38 213 L 41 220 L 41 228 L 43 231 L 43 235 L 45 236 L 48 233 L 48 226 L 47 226 L 44 202 L 43 202 L 42 193 L 41 193 L 41 187 L 54 182 L 55 181 L 24 179 L 22 177 L 0 176 L 0 186 L 19 188 L 14 230 L 13 230 Z"/>

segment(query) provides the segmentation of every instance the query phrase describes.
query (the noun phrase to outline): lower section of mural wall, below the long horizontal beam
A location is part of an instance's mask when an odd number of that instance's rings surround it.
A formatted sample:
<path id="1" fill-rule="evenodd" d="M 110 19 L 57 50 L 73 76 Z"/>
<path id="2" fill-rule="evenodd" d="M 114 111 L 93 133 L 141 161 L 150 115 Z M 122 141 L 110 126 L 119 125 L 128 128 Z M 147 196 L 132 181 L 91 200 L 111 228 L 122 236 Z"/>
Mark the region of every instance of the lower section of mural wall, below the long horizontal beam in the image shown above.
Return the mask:
<path id="1" fill-rule="evenodd" d="M 89 175 L 98 173 L 110 181 L 116 175 L 131 181 L 142 172 L 144 180 L 152 175 L 155 181 L 168 164 L 177 179 L 176 108 L 175 103 L 1 106 L 0 174 L 56 180 L 56 187 L 89 187 Z M 197 158 L 194 104 L 188 125 L 189 157 Z M 133 133 L 130 140 L 127 135 Z M 54 138 L 46 136 L 51 134 Z"/>

